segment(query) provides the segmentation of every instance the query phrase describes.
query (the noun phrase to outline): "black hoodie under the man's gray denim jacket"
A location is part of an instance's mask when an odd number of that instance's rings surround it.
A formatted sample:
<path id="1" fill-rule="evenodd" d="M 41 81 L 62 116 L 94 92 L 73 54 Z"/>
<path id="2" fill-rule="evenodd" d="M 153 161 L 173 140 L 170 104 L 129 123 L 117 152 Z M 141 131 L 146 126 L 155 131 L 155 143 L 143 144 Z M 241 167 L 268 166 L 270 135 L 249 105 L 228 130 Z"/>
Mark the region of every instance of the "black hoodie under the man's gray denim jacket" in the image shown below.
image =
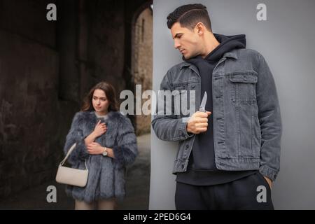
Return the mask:
<path id="1" fill-rule="evenodd" d="M 235 36 L 224 36 L 221 34 L 214 34 L 220 45 L 212 50 L 204 59 L 198 55 L 191 59 L 185 59 L 197 66 L 201 78 L 201 98 L 204 92 L 207 92 L 206 111 L 213 112 L 212 102 L 212 72 L 218 61 L 223 57 L 225 52 L 237 48 L 246 47 L 246 38 L 244 34 Z M 224 172 L 216 168 L 214 155 L 214 126 L 213 116 L 208 117 L 207 132 L 196 134 L 193 144 L 192 153 L 190 153 L 188 171 L 179 173 L 176 181 L 181 183 L 188 183 L 197 186 L 209 186 L 213 184 L 227 183 L 240 179 L 241 177 L 252 174 L 250 172 Z"/>

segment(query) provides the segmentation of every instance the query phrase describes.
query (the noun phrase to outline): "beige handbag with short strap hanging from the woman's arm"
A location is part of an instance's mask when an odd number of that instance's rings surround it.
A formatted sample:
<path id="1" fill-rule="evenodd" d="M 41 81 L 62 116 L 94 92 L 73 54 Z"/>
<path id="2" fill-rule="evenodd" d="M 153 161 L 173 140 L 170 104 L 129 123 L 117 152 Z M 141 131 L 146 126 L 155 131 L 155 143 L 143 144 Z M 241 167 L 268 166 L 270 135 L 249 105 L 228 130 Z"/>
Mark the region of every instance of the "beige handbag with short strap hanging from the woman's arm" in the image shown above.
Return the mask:
<path id="1" fill-rule="evenodd" d="M 64 162 L 66 162 L 74 148 L 76 148 L 76 144 L 73 144 L 73 146 L 71 146 L 68 153 L 66 153 L 66 157 L 64 158 L 64 160 L 60 162 L 56 175 L 56 181 L 58 183 L 64 183 L 72 186 L 85 187 L 87 183 L 87 176 L 89 174 L 86 161 L 84 162 L 85 169 L 74 169 L 63 166 Z"/>

